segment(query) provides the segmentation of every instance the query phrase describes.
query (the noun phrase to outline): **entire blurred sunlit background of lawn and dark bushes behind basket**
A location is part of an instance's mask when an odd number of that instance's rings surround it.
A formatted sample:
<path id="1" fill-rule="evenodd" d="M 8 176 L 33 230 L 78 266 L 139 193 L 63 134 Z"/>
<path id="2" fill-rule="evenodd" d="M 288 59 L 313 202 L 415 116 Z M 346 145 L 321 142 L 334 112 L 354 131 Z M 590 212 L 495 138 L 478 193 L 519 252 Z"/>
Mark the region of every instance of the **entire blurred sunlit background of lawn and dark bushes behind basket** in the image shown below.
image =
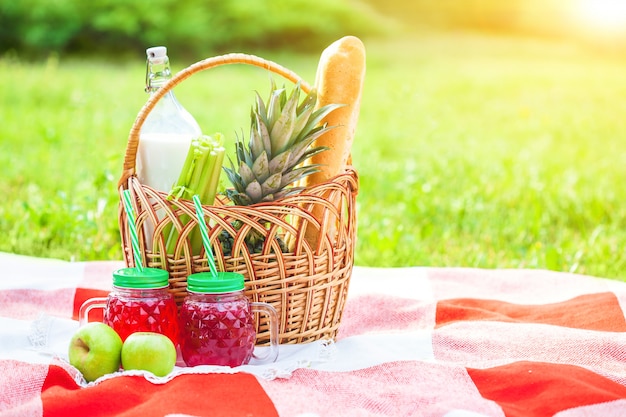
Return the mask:
<path id="1" fill-rule="evenodd" d="M 1 251 L 121 258 L 116 183 L 145 47 L 167 45 L 175 71 L 242 51 L 312 81 L 321 50 L 355 34 L 357 264 L 626 277 L 620 2 L 83 3 L 0 0 Z M 228 67 L 176 93 L 205 132 L 233 137 L 268 85 Z"/>

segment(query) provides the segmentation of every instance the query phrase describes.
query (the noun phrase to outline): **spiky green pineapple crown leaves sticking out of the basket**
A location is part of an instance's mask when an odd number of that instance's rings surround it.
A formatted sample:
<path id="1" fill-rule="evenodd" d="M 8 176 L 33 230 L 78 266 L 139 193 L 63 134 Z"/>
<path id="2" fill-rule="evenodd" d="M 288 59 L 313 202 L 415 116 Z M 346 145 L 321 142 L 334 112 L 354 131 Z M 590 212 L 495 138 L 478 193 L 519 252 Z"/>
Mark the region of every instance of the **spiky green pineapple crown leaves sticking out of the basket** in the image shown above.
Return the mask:
<path id="1" fill-rule="evenodd" d="M 234 187 L 227 190 L 227 195 L 235 204 L 273 201 L 297 193 L 302 187 L 287 187 L 318 171 L 319 165 L 302 164 L 328 149 L 311 145 L 335 127 L 321 122 L 341 105 L 316 110 L 317 92 L 311 90 L 299 103 L 301 91 L 297 83 L 288 96 L 287 90 L 277 88 L 272 80 L 267 103 L 257 93 L 256 106 L 250 113 L 250 140 L 245 145 L 237 136 L 237 164 L 229 158 L 230 168 L 224 167 Z"/>

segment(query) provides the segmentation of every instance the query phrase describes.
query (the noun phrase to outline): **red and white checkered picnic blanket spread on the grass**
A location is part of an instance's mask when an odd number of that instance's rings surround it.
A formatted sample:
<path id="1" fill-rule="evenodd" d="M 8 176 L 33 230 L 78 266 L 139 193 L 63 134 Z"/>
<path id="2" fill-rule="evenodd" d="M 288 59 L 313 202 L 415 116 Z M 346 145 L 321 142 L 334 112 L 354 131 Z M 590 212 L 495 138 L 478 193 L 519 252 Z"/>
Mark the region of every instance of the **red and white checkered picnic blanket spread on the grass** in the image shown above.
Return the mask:
<path id="1" fill-rule="evenodd" d="M 334 343 L 277 363 L 120 372 L 67 363 L 78 307 L 121 262 L 0 254 L 0 417 L 624 416 L 626 284 L 541 270 L 356 267 Z"/>

